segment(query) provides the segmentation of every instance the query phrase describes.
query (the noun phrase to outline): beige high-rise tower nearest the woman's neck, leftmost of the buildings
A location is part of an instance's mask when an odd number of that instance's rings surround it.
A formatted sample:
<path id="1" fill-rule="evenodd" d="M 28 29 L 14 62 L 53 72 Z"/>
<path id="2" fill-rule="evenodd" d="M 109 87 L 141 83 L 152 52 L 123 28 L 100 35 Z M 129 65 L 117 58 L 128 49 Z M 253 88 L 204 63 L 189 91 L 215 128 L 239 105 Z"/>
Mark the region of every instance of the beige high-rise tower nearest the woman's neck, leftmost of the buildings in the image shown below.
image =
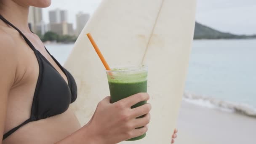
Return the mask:
<path id="1" fill-rule="evenodd" d="M 32 32 L 40 35 L 45 33 L 45 23 L 43 22 L 42 8 L 29 7 L 29 28 Z"/>

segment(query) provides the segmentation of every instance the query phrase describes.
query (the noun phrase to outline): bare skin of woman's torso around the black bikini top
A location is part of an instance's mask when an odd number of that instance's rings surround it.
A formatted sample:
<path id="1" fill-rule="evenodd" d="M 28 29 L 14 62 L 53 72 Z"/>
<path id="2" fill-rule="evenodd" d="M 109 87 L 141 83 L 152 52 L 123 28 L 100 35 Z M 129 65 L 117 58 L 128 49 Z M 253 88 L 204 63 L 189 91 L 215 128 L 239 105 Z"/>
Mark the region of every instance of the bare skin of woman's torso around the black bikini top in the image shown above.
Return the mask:
<path id="1" fill-rule="evenodd" d="M 13 57 L 18 59 L 15 83 L 8 96 L 4 127 L 4 133 L 6 133 L 30 117 L 32 100 L 39 75 L 39 65 L 34 52 L 19 32 L 0 21 L 0 37 L 2 35 L 8 35 L 10 44 L 15 45 Z M 24 32 L 24 35 L 67 82 L 67 77 L 47 53 L 39 37 L 30 32 Z M 3 144 L 53 144 L 74 133 L 79 128 L 80 124 L 77 118 L 68 109 L 60 115 L 27 123 L 8 136 L 3 141 Z"/>

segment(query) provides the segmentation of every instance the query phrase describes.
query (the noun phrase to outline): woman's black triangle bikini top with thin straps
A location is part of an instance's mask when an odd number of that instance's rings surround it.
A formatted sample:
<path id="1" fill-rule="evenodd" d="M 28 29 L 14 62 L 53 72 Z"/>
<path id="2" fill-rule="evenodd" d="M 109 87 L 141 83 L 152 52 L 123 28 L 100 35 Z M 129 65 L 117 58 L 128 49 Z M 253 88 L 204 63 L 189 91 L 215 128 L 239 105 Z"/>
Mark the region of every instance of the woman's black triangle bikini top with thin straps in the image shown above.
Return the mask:
<path id="1" fill-rule="evenodd" d="M 31 115 L 28 120 L 5 133 L 3 135 L 3 139 L 5 139 L 17 131 L 21 126 L 29 122 L 45 119 L 65 112 L 68 109 L 69 104 L 74 102 L 77 98 L 77 85 L 67 69 L 64 69 L 64 67 L 62 67 L 47 50 L 46 51 L 67 76 L 68 84 L 53 65 L 51 65 L 51 63 L 36 50 L 32 43 L 18 28 L 1 15 L 0 19 L 16 29 L 22 35 L 26 43 L 34 51 L 39 64 L 39 76 L 33 97 Z"/>

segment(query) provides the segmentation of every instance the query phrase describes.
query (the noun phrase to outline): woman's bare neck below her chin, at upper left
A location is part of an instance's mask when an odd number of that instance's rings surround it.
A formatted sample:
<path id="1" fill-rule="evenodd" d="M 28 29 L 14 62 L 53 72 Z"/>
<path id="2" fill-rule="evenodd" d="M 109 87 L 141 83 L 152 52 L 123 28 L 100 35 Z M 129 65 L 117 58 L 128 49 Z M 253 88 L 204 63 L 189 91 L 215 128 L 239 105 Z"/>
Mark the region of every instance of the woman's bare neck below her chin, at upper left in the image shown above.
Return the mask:
<path id="1" fill-rule="evenodd" d="M 30 32 L 28 26 L 29 6 L 0 0 L 0 14 L 23 32 Z"/>

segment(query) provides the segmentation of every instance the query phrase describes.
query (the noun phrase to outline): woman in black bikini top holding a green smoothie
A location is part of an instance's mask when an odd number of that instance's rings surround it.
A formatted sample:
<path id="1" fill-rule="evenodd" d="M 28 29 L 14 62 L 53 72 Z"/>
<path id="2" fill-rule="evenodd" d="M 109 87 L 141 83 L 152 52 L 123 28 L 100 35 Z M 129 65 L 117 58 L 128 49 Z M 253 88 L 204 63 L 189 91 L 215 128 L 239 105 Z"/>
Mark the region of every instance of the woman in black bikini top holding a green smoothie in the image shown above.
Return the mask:
<path id="1" fill-rule="evenodd" d="M 151 105 L 130 107 L 148 100 L 147 93 L 114 104 L 106 97 L 91 120 L 80 126 L 69 109 L 77 96 L 74 78 L 27 23 L 29 6 L 50 4 L 51 0 L 0 0 L 0 144 L 115 144 L 145 133 Z M 136 119 L 141 115 L 146 116 Z"/>

